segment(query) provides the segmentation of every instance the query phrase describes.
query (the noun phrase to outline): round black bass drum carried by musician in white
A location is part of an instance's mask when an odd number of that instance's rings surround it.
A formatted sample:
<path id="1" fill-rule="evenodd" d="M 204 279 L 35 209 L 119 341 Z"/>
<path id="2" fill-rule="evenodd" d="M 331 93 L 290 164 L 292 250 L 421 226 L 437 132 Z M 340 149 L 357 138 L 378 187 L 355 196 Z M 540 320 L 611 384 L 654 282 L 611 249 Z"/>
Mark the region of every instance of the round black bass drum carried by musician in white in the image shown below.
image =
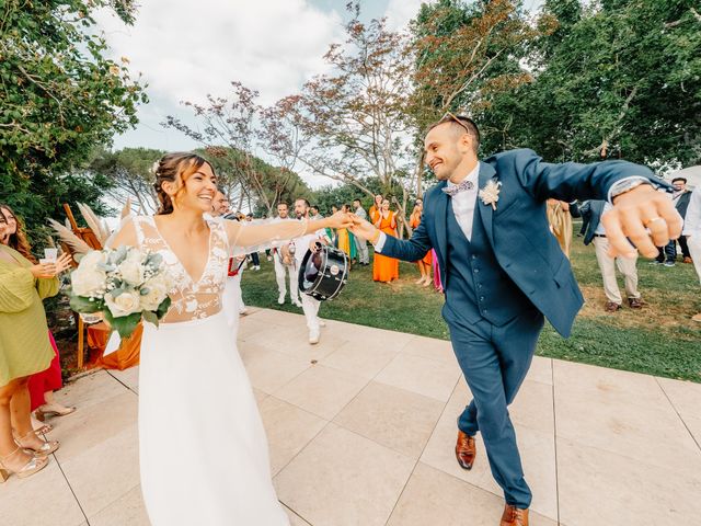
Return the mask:
<path id="1" fill-rule="evenodd" d="M 321 301 L 334 299 L 348 282 L 348 255 L 322 244 L 308 250 L 299 267 L 299 290 Z"/>

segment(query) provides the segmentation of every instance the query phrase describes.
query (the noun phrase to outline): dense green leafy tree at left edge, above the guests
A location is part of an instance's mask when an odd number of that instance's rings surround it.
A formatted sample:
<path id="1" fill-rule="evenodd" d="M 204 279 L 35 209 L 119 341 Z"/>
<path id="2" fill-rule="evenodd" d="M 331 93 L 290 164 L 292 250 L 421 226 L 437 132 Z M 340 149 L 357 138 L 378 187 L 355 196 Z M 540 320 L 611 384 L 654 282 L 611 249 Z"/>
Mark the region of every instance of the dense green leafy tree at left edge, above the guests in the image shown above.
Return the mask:
<path id="1" fill-rule="evenodd" d="M 134 21 L 128 0 L 5 0 L 0 10 L 0 192 L 30 230 L 61 204 L 83 201 L 99 210 L 107 184 L 80 167 L 94 147 L 137 122 L 146 102 L 128 60 L 104 57 L 91 14 L 111 7 Z"/>

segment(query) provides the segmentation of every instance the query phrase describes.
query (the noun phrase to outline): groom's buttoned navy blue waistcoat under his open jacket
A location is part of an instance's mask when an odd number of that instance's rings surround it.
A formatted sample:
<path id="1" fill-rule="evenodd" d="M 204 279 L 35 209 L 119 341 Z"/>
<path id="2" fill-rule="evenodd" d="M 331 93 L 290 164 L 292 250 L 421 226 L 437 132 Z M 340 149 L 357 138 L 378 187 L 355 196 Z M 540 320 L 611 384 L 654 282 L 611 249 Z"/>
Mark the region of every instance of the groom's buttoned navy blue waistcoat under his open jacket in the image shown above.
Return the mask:
<path id="1" fill-rule="evenodd" d="M 448 201 L 446 319 L 457 317 L 469 323 L 476 323 L 484 318 L 499 327 L 525 310 L 535 309 L 533 304 L 496 261 L 476 208 L 472 219 L 471 240 L 468 240 L 452 211 L 452 199 Z"/>

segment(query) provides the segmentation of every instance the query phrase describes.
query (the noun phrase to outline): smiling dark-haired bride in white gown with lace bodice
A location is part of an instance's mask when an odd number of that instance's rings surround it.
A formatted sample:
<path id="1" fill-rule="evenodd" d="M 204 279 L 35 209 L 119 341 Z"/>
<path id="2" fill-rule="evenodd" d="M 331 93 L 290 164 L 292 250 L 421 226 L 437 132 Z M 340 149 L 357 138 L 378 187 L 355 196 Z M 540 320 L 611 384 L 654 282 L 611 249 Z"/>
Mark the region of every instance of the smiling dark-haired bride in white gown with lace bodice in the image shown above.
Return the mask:
<path id="1" fill-rule="evenodd" d="M 263 423 L 221 310 L 229 253 L 352 221 L 343 213 L 312 224 L 206 220 L 216 183 L 202 157 L 166 155 L 156 170 L 158 215 L 133 218 L 110 243 L 160 252 L 176 283 L 160 328 L 143 329 L 141 491 L 153 526 L 287 525 Z"/>

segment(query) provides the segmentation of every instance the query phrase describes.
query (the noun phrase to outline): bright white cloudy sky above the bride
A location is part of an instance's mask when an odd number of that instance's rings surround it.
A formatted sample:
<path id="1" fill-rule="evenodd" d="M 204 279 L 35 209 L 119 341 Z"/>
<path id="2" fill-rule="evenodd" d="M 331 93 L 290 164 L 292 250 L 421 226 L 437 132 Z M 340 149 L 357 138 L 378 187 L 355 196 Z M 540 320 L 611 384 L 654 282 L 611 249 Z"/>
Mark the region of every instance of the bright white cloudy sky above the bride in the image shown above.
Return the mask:
<path id="1" fill-rule="evenodd" d="M 261 92 L 271 104 L 295 93 L 324 70 L 323 54 L 343 42 L 347 0 L 143 0 L 134 26 L 110 12 L 97 16 L 111 55 L 127 57 L 134 75 L 148 82 L 150 103 L 140 124 L 115 138 L 114 148 L 187 150 L 195 145 L 163 128 L 166 115 L 195 123 L 182 101 L 208 93 L 226 96 L 232 80 Z M 388 16 L 404 26 L 422 0 L 365 0 L 363 19 Z"/>

